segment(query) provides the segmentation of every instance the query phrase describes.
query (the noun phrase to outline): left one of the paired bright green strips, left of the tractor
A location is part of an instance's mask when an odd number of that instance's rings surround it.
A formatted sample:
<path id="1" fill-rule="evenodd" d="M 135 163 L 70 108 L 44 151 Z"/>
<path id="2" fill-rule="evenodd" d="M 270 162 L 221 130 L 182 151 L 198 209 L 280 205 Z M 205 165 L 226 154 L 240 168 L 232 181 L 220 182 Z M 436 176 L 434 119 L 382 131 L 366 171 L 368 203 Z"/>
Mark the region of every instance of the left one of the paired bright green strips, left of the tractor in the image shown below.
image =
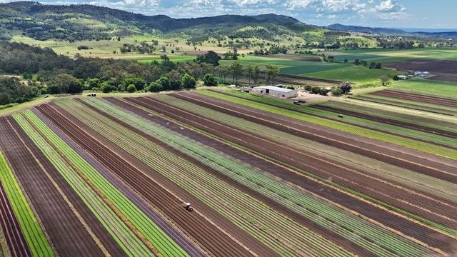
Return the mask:
<path id="1" fill-rule="evenodd" d="M 31 119 L 35 126 L 39 127 L 41 133 L 46 136 L 49 140 L 49 144 L 41 134 L 29 124 L 24 116 Z M 46 125 L 42 123 L 31 111 L 26 111 L 24 116 L 20 114 L 14 115 L 14 119 L 18 122 L 21 128 L 27 133 L 32 141 L 40 148 L 46 158 L 51 161 L 52 165 L 56 168 L 61 176 L 69 183 L 71 188 L 81 197 L 86 203 L 86 206 L 91 209 L 92 213 L 96 216 L 99 222 L 106 228 L 107 231 L 113 236 L 119 246 L 129 256 L 152 256 L 151 251 L 142 243 L 139 238 L 129 229 L 126 224 L 121 221 L 119 216 L 116 216 L 109 206 L 103 201 L 103 199 L 84 181 L 79 174 L 74 171 L 74 168 L 69 166 L 69 163 L 64 161 L 57 149 L 62 153 L 76 155 L 74 151 L 69 149 L 64 141 L 61 140 L 56 134 L 49 128 L 46 129 Z"/>

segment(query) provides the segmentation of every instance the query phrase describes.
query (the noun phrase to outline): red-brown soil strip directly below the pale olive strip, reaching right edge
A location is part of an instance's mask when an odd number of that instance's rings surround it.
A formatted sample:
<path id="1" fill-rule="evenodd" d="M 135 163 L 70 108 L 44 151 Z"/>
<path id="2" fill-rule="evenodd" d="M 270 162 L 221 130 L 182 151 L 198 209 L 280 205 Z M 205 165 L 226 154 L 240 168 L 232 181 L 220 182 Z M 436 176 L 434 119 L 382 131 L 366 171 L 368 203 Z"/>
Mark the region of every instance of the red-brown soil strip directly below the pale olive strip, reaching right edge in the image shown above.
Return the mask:
<path id="1" fill-rule="evenodd" d="M 157 105 L 158 104 L 156 103 L 149 104 L 148 107 L 153 108 Z M 176 110 L 173 112 L 167 111 L 166 115 L 173 116 L 174 119 L 178 120 L 189 116 L 189 114 L 181 114 L 180 116 L 177 116 L 176 113 Z M 192 118 L 194 119 L 193 126 L 225 138 L 229 138 L 229 135 L 231 134 L 229 140 L 251 148 L 254 151 L 263 153 L 266 156 L 271 156 L 278 161 L 288 163 L 296 168 L 300 168 L 303 171 L 315 173 L 321 178 L 329 178 L 335 183 L 346 186 L 347 188 L 353 188 L 356 191 L 365 193 L 368 196 L 373 196 L 381 201 L 391 203 L 394 206 L 399 206 L 413 213 L 420 213 L 422 216 L 426 216 L 438 223 L 443 223 L 454 228 L 457 227 L 455 221 L 457 215 L 454 213 L 457 208 L 455 203 L 451 203 L 443 199 L 436 201 L 438 200 L 436 196 L 427 196 L 426 192 L 421 192 L 423 196 L 419 196 L 403 189 L 406 187 L 397 188 L 394 186 L 388 186 L 388 184 L 381 182 L 387 181 L 386 179 L 378 178 L 376 176 L 365 176 L 367 173 L 366 171 L 346 167 L 342 163 L 338 163 L 336 160 L 328 159 L 324 156 L 316 156 L 313 153 L 307 153 L 306 151 L 294 149 L 291 146 L 285 146 L 280 143 L 273 143 L 269 141 L 268 138 L 251 136 L 249 133 L 244 133 L 238 129 L 232 129 L 229 126 L 222 126 L 217 122 L 210 121 L 209 119 L 201 119 L 196 115 L 192 116 L 194 116 L 194 118 Z M 199 119 L 199 121 L 197 119 Z M 230 130 L 232 131 L 230 132 Z M 396 184 L 395 181 L 387 182 Z M 413 190 L 411 188 L 407 189 Z M 424 211 L 423 208 L 428 208 L 428 210 L 433 213 Z M 446 210 L 443 210 L 443 208 Z M 444 216 L 451 218 L 451 220 L 436 215 L 436 213 L 441 213 Z"/>

